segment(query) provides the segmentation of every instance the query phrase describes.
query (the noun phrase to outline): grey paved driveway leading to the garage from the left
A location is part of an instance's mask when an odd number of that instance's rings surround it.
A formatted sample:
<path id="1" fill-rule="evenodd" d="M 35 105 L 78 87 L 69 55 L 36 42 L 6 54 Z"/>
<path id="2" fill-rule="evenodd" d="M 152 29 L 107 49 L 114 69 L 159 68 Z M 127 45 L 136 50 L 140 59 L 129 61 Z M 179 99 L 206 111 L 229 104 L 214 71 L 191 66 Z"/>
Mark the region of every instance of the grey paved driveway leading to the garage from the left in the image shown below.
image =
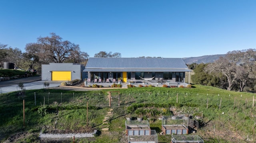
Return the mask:
<path id="1" fill-rule="evenodd" d="M 49 87 L 56 87 L 60 86 L 60 83 L 62 81 L 42 81 L 41 76 L 33 76 L 28 78 L 18 78 L 13 80 L 6 80 L 0 82 L 0 93 L 8 93 L 13 91 L 19 91 L 20 88 L 18 84 L 22 82 L 24 83 L 24 86 L 26 90 L 32 90 L 32 89 L 42 89 L 44 87 L 44 82 L 49 82 Z"/>

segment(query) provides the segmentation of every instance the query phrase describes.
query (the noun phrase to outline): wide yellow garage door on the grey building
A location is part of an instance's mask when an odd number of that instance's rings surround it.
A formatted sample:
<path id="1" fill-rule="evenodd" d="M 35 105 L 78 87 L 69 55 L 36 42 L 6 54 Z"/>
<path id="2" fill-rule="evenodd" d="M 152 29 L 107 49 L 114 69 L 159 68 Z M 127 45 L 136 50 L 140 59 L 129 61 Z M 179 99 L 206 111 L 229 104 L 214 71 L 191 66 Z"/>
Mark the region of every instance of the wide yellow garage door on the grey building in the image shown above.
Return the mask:
<path id="1" fill-rule="evenodd" d="M 52 71 L 52 80 L 71 80 L 71 71 Z"/>

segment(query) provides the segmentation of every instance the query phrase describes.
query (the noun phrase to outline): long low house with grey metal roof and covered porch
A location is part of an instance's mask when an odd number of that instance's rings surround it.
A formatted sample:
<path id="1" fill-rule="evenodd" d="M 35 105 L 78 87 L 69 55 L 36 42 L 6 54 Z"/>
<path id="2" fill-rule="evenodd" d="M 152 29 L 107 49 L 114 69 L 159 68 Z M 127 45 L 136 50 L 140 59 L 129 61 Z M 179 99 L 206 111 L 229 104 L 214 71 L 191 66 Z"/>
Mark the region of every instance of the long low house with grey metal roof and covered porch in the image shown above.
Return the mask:
<path id="1" fill-rule="evenodd" d="M 181 58 L 89 58 L 84 72 L 91 81 L 122 82 L 148 80 L 150 82 L 185 83 L 190 70 Z"/>

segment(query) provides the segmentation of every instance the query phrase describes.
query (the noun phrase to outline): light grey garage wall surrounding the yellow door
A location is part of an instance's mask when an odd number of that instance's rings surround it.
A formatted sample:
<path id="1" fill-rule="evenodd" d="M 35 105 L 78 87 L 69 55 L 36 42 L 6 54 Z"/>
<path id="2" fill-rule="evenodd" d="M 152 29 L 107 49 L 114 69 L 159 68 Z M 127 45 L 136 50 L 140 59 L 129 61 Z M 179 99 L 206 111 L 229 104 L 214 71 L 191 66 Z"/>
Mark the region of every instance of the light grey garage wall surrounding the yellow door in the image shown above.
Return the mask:
<path id="1" fill-rule="evenodd" d="M 52 80 L 51 71 L 74 71 L 71 72 L 71 80 L 80 79 L 81 76 L 81 65 L 73 63 L 50 63 L 49 65 L 42 65 L 42 80 Z"/>

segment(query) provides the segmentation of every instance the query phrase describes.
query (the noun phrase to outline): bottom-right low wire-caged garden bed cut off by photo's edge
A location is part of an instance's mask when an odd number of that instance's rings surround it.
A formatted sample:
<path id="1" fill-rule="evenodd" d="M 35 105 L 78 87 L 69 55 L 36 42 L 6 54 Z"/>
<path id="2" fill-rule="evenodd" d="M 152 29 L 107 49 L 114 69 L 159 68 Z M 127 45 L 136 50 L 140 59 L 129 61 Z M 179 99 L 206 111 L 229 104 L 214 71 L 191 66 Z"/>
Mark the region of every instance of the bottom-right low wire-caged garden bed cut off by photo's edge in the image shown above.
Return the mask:
<path id="1" fill-rule="evenodd" d="M 198 135 L 172 135 L 171 143 L 204 143 Z"/>

